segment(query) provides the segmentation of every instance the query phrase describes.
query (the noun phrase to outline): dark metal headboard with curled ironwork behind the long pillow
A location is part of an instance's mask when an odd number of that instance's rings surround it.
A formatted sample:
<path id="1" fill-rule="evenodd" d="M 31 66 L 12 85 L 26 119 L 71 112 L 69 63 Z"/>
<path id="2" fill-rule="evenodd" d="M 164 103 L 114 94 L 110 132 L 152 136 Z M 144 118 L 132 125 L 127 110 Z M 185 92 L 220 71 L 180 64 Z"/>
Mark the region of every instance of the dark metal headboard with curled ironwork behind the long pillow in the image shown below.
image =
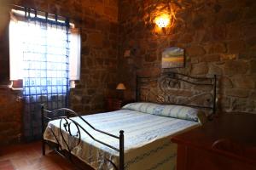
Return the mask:
<path id="1" fill-rule="evenodd" d="M 143 85 L 148 85 L 150 82 L 157 82 L 157 89 L 158 91 L 156 94 L 152 91 L 152 87 L 143 87 Z M 198 87 L 201 86 L 207 86 L 212 88 L 210 92 L 204 92 L 204 94 L 211 94 L 212 101 L 210 99 L 207 99 L 208 102 L 212 103 L 211 105 L 189 105 L 189 104 L 179 104 L 179 103 L 173 103 L 170 101 L 170 96 L 173 96 L 168 92 L 169 89 L 178 89 L 181 87 L 181 82 L 188 83 L 189 85 L 195 85 Z M 185 75 L 183 73 L 177 73 L 177 72 L 164 72 L 161 73 L 160 76 L 156 77 L 139 77 L 137 76 L 137 83 L 136 83 L 136 100 L 139 101 L 141 99 L 141 91 L 142 87 L 147 90 L 148 94 L 146 98 L 143 99 L 143 101 L 148 101 L 147 98 L 150 94 L 153 94 L 155 96 L 154 102 L 160 103 L 162 105 L 184 105 L 189 107 L 195 107 L 199 109 L 207 109 L 212 110 L 212 116 L 216 114 L 216 94 L 217 94 L 217 77 L 214 75 L 213 77 L 191 77 L 189 75 Z M 193 91 L 193 90 L 190 90 Z M 201 90 L 202 91 L 202 90 Z M 167 98 L 166 98 L 167 97 Z"/>

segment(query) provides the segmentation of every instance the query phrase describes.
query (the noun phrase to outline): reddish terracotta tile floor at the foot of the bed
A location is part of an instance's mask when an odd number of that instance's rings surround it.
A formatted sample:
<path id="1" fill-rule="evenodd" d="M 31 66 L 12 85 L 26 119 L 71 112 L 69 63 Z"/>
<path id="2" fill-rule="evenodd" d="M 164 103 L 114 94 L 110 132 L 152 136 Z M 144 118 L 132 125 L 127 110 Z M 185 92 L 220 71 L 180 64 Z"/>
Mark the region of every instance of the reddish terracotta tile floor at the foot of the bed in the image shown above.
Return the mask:
<path id="1" fill-rule="evenodd" d="M 0 148 L 0 170 L 76 170 L 53 151 L 42 156 L 41 143 L 17 144 Z M 84 167 L 84 170 L 91 170 Z"/>

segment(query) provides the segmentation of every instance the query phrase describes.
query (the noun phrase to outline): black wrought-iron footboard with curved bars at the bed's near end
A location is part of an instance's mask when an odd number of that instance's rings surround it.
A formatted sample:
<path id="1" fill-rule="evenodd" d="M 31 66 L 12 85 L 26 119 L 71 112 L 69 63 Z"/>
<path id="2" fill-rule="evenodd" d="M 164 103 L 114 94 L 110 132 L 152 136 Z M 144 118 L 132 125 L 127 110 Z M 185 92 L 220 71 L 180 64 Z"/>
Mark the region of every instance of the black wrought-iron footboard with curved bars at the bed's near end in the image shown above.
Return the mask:
<path id="1" fill-rule="evenodd" d="M 63 112 L 65 115 L 64 116 L 55 116 L 56 113 L 60 113 Z M 45 115 L 45 113 L 47 113 L 47 115 Z M 51 114 L 51 116 L 48 116 L 48 114 Z M 66 157 L 69 161 L 73 162 L 73 158 L 72 158 L 72 150 L 75 146 L 79 145 L 81 142 L 81 131 L 83 131 L 84 133 L 88 134 L 90 136 L 91 139 L 95 140 L 96 142 L 103 144 L 105 146 L 108 146 L 108 148 L 111 148 L 113 150 L 116 150 L 119 152 L 119 166 L 116 166 L 113 161 L 109 160 L 108 158 L 105 158 L 106 161 L 109 161 L 113 167 L 115 169 L 119 169 L 119 170 L 124 170 L 124 163 L 125 163 L 125 157 L 124 157 L 124 152 L 125 152 L 125 143 L 124 143 L 124 131 L 120 130 L 119 131 L 119 136 L 110 134 L 110 133 L 106 133 L 102 130 L 99 130 L 95 127 L 93 127 L 92 125 L 90 125 L 89 122 L 85 121 L 84 118 L 82 116 L 79 116 L 78 113 L 76 113 L 75 111 L 72 111 L 70 109 L 67 108 L 61 108 L 61 109 L 57 109 L 55 111 L 48 111 L 44 109 L 44 105 L 41 105 L 41 116 L 42 116 L 42 152 L 43 155 L 45 155 L 45 144 L 49 144 L 47 140 L 44 139 L 44 130 L 45 127 L 47 126 L 49 121 L 53 121 L 55 119 L 60 119 L 60 134 L 61 134 L 61 139 L 64 141 L 65 144 L 65 148 L 67 150 L 68 155 L 66 156 L 65 154 L 63 154 L 61 151 L 63 151 L 64 149 L 62 148 L 60 141 L 57 137 L 57 135 L 53 132 L 53 130 L 51 130 L 56 142 L 57 142 L 57 147 L 54 149 L 58 154 L 60 154 L 61 156 Z M 104 142 L 102 142 L 101 140 L 96 139 L 92 134 L 90 134 L 84 127 L 82 127 L 78 122 L 75 122 L 73 119 L 71 119 L 70 117 L 73 116 L 77 116 L 79 117 L 84 123 L 86 123 L 90 128 L 92 128 L 93 130 L 95 130 L 96 132 L 99 133 L 103 133 L 108 135 L 110 138 L 114 138 L 114 139 L 119 139 L 119 148 L 116 148 L 110 144 L 106 144 Z M 63 122 L 63 123 L 62 123 Z M 61 128 L 61 125 L 63 126 L 63 128 Z M 74 125 L 77 128 L 77 132 L 75 134 L 73 134 L 71 132 L 71 125 Z M 65 131 L 66 133 L 68 133 L 68 135 L 76 137 L 78 139 L 77 143 L 74 146 L 70 146 L 69 142 L 67 141 L 67 139 L 64 138 L 63 135 L 63 131 Z M 61 150 L 60 150 L 61 149 Z"/>

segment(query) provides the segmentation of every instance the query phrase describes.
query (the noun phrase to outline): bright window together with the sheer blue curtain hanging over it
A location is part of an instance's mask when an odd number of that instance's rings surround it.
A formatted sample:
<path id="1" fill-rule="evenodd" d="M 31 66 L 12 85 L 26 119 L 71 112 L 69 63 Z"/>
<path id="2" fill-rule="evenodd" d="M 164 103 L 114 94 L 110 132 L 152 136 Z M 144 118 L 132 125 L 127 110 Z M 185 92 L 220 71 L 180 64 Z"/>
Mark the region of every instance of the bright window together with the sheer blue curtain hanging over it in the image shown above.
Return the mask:
<path id="1" fill-rule="evenodd" d="M 22 80 L 24 136 L 41 135 L 40 104 L 67 107 L 70 81 L 79 80 L 79 30 L 62 17 L 24 8 L 9 23 L 10 80 Z"/>

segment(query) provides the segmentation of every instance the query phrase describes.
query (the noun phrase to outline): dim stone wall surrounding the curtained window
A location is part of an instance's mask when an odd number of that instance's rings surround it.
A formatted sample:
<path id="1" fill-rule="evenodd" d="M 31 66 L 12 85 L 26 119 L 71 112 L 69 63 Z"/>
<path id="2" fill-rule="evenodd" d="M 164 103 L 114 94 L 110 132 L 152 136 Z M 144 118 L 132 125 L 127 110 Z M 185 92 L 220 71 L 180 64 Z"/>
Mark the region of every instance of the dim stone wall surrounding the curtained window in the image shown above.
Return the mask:
<path id="1" fill-rule="evenodd" d="M 4 136 L 9 143 L 19 139 L 22 132 L 22 106 L 21 109 L 18 106 L 22 103 L 16 101 L 19 92 L 6 88 L 9 84 L 8 3 L 67 16 L 81 28 L 81 78 L 71 90 L 70 108 L 83 114 L 105 111 L 105 99 L 114 94 L 117 83 L 118 0 L 4 0 L 0 8 L 0 85 L 5 87 L 0 90 L 0 144 Z"/>

